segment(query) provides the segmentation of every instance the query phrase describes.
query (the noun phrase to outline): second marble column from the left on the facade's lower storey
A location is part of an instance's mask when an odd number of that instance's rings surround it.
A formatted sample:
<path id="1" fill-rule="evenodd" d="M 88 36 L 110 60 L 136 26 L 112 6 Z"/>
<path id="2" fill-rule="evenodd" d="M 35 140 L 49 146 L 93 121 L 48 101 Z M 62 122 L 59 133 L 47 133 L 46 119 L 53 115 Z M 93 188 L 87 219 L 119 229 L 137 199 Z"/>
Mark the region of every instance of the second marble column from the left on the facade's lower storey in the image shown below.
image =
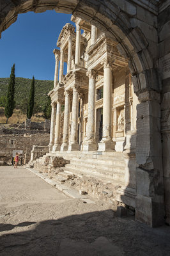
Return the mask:
<path id="1" fill-rule="evenodd" d="M 57 111 L 56 111 L 55 140 L 54 140 L 54 146 L 52 147 L 52 151 L 58 151 L 61 148 L 60 127 L 61 127 L 61 103 L 58 102 Z"/>

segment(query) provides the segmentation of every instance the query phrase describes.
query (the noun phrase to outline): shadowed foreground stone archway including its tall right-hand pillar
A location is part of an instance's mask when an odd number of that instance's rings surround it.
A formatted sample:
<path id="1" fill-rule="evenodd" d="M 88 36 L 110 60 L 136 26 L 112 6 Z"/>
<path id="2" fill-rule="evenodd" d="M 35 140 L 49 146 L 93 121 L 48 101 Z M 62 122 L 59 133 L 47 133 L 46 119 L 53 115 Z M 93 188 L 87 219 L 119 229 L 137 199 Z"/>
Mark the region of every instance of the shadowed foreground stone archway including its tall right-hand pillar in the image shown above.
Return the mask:
<path id="1" fill-rule="evenodd" d="M 137 105 L 136 219 L 151 227 L 164 223 L 164 181 L 160 134 L 158 74 L 158 1 L 120 0 L 1 0 L 0 32 L 17 20 L 19 13 L 73 13 L 118 42 L 128 58 Z M 141 13 L 146 13 L 148 19 Z"/>

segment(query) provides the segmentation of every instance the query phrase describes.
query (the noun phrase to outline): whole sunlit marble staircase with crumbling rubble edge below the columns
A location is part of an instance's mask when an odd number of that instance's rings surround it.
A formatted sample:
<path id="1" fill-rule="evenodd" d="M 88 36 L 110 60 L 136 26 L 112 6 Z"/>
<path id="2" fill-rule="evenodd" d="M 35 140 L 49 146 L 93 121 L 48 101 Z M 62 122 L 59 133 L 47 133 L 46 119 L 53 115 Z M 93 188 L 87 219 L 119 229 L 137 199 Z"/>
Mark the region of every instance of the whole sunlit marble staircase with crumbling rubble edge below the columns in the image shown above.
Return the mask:
<path id="1" fill-rule="evenodd" d="M 123 153 L 103 152 L 94 157 L 92 152 L 47 153 L 36 159 L 34 169 L 82 195 L 113 202 L 117 189 L 124 185 Z"/>

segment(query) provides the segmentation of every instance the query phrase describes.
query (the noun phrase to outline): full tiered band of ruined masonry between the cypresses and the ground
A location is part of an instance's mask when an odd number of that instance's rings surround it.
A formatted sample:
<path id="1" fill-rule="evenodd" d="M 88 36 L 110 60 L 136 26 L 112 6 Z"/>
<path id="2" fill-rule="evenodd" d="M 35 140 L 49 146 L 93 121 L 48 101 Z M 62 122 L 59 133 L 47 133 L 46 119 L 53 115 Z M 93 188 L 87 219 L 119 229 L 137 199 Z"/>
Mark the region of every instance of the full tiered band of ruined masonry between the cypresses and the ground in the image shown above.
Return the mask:
<path id="1" fill-rule="evenodd" d="M 29 123 L 29 125 L 28 125 Z M 31 124 L 32 123 L 32 124 Z M 47 123 L 47 122 L 46 122 Z M 48 122 L 49 123 L 49 122 Z M 38 145 L 38 152 L 35 157 L 43 156 L 49 151 L 49 129 L 44 122 L 26 122 L 26 124 L 10 125 L 0 129 L 0 164 L 12 164 L 13 150 L 22 150 L 22 164 L 28 163 L 31 157 L 33 145 Z M 36 148 L 34 147 L 34 151 Z"/>

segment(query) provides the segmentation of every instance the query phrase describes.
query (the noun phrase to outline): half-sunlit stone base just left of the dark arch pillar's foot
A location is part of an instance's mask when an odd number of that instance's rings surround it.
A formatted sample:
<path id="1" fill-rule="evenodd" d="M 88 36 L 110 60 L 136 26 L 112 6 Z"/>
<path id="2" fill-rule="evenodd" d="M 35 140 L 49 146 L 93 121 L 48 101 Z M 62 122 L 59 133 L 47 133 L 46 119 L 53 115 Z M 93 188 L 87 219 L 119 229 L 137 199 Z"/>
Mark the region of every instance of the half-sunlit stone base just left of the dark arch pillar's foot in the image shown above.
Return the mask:
<path id="1" fill-rule="evenodd" d="M 123 204 L 135 208 L 136 189 L 130 187 L 121 187 L 116 191 L 116 200 Z"/>

